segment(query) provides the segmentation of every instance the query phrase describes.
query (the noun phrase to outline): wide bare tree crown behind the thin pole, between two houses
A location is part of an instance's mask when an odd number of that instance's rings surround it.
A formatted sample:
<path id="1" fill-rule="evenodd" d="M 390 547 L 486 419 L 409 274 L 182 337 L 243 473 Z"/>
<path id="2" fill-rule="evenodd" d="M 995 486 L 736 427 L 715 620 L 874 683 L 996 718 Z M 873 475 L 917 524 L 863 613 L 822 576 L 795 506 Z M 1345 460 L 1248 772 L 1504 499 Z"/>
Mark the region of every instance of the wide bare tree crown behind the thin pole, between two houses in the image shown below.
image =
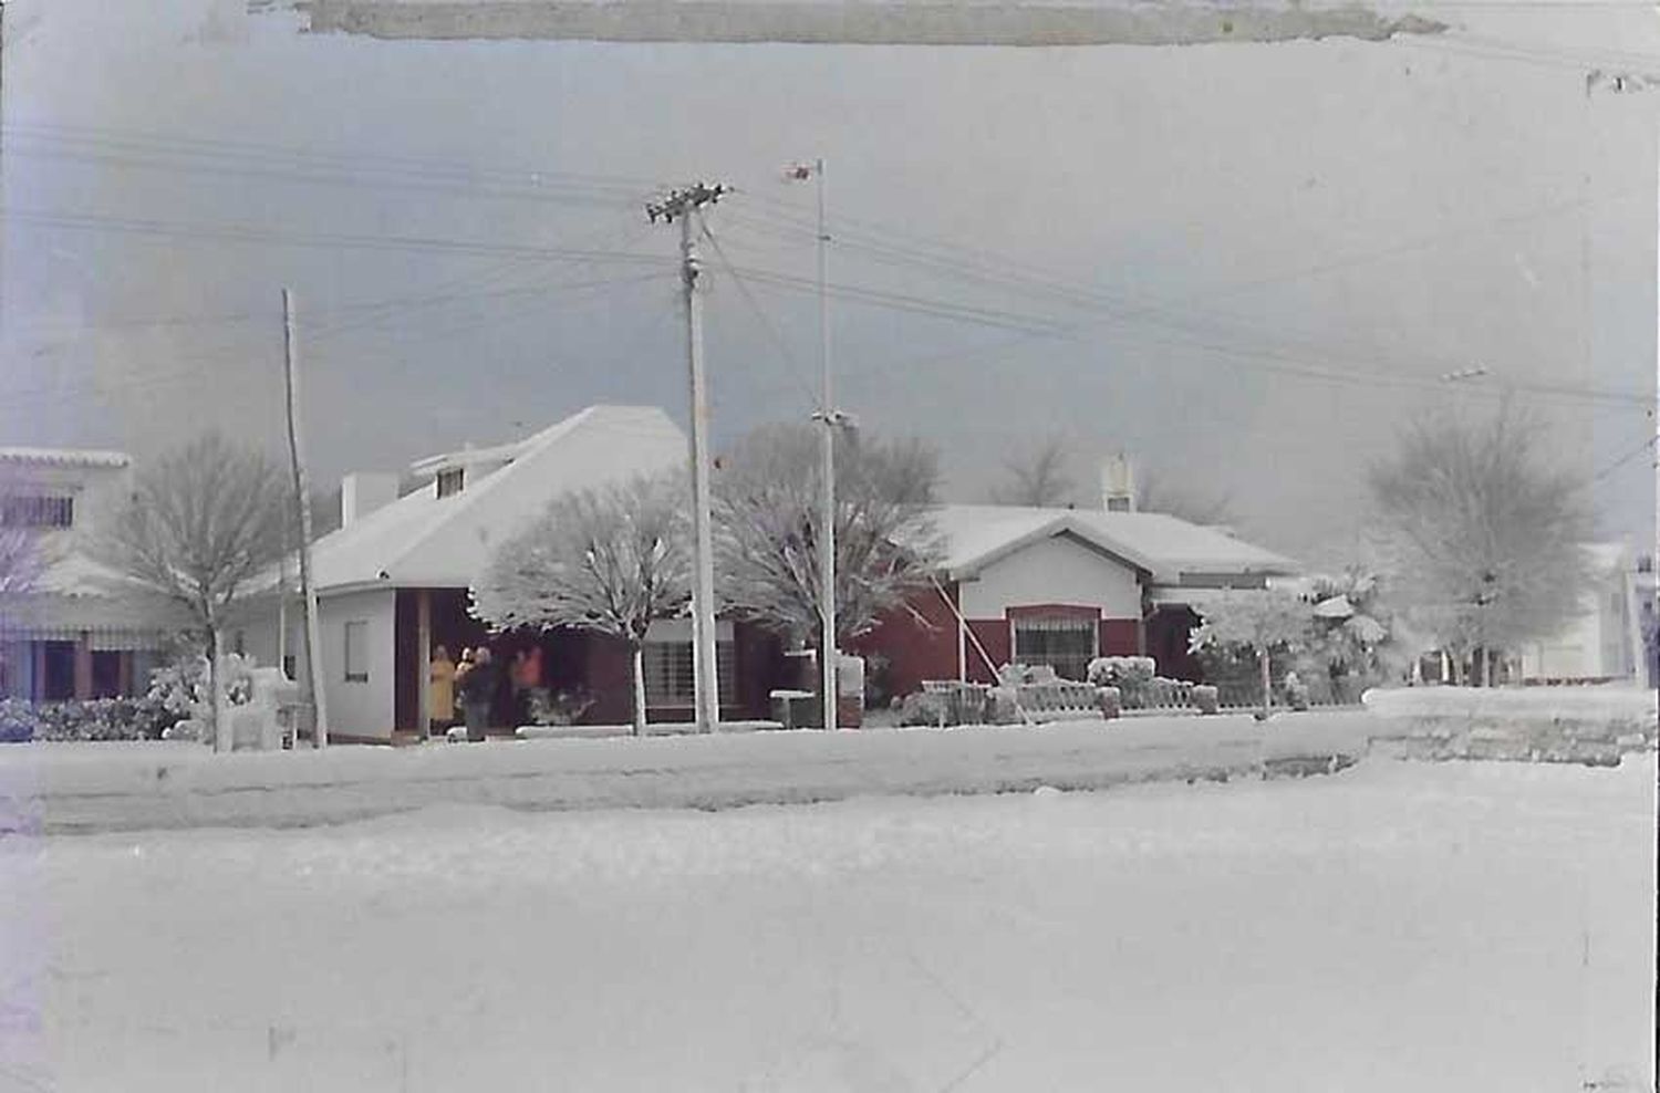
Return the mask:
<path id="1" fill-rule="evenodd" d="M 725 604 L 817 644 L 822 620 L 818 438 L 775 426 L 737 446 L 715 481 L 715 562 Z M 837 438 L 837 642 L 858 637 L 928 585 L 943 557 L 930 509 L 940 481 L 918 441 Z"/>

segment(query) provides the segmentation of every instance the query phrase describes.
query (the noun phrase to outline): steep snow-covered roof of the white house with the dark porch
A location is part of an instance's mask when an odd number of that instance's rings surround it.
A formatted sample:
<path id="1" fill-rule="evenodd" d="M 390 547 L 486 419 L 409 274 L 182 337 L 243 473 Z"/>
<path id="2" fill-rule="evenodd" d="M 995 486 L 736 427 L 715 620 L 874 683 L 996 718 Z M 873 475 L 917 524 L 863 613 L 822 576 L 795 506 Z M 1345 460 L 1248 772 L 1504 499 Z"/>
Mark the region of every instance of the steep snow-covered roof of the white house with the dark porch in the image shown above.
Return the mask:
<path id="1" fill-rule="evenodd" d="M 513 448 L 511 463 L 456 494 L 440 498 L 437 483 L 428 483 L 319 539 L 317 590 L 466 587 L 495 544 L 553 498 L 686 461 L 686 435 L 656 406 L 589 406 Z"/>

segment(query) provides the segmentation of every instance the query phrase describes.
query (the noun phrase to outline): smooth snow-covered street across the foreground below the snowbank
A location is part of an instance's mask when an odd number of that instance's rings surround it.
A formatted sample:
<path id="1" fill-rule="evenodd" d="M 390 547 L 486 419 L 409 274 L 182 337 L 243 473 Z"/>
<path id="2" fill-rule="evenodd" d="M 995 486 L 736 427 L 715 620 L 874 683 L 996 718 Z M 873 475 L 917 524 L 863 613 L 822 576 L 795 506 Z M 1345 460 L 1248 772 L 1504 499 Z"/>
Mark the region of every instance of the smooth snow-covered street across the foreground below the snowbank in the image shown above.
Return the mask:
<path id="1" fill-rule="evenodd" d="M 12 836 L 0 1090 L 1648 1090 L 1655 773 Z"/>

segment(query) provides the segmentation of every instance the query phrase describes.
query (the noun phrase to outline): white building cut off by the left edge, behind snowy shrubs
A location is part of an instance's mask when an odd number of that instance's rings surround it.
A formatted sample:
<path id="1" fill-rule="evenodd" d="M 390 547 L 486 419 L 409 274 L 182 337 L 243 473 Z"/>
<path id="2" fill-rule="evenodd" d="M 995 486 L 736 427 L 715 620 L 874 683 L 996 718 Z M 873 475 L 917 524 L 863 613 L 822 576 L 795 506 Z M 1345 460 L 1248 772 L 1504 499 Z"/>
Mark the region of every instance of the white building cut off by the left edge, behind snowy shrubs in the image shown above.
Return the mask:
<path id="1" fill-rule="evenodd" d="M 0 595 L 0 697 L 32 702 L 143 693 L 178 610 L 93 562 L 86 544 L 131 489 L 118 451 L 0 448 L 0 529 L 38 574 Z"/>

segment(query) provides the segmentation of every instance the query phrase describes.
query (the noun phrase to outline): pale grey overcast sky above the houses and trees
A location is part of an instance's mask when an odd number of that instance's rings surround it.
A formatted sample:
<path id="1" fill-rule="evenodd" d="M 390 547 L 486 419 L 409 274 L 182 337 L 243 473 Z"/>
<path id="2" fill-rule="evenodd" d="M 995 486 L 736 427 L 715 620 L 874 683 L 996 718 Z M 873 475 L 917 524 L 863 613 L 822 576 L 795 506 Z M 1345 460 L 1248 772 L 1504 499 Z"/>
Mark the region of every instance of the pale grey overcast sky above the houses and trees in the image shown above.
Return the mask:
<path id="1" fill-rule="evenodd" d="M 857 290 L 832 304 L 838 401 L 935 441 L 954 498 L 1057 431 L 1082 479 L 1122 448 L 1230 493 L 1263 544 L 1340 561 L 1368 461 L 1426 410 L 1514 386 L 1587 474 L 1652 430 L 1584 391 L 1655 385 L 1660 88 L 1587 91 L 1660 75 L 1653 12 L 1414 10 L 1456 27 L 387 43 L 236 0 L 17 0 L 0 443 L 144 458 L 217 425 L 277 453 L 282 285 L 319 479 L 594 401 L 684 421 L 677 236 L 642 204 L 692 179 L 740 187 L 706 247 L 719 438 L 803 418 L 812 192 L 779 176 L 823 156 L 832 282 Z M 1438 378 L 1464 368 L 1486 376 Z M 1604 534 L 1652 532 L 1642 454 L 1595 491 Z"/>

